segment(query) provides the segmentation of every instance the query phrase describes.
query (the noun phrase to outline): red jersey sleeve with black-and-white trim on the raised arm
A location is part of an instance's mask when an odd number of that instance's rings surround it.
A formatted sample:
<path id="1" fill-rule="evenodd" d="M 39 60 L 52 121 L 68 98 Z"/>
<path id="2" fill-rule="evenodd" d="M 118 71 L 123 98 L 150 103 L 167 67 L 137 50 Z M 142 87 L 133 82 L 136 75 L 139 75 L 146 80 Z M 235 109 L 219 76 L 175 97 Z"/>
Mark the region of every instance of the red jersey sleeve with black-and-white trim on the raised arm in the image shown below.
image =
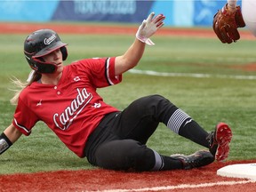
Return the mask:
<path id="1" fill-rule="evenodd" d="M 122 81 L 122 75 L 115 76 L 115 60 L 115 57 L 79 60 L 76 66 L 90 76 L 95 87 L 101 88 Z"/>

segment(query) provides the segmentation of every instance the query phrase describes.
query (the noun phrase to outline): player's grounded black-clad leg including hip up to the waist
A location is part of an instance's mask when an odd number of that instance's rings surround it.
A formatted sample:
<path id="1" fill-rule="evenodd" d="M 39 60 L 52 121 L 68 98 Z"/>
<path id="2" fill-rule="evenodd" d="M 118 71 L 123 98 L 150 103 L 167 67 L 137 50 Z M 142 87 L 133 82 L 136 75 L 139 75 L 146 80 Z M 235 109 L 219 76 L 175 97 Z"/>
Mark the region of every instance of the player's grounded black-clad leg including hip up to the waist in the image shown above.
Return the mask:
<path id="1" fill-rule="evenodd" d="M 87 141 L 84 154 L 90 164 L 115 170 L 158 171 L 192 169 L 214 160 L 212 154 L 205 151 L 190 156 L 161 156 L 138 140 L 120 139 L 112 129 L 117 114 L 106 116 Z"/>

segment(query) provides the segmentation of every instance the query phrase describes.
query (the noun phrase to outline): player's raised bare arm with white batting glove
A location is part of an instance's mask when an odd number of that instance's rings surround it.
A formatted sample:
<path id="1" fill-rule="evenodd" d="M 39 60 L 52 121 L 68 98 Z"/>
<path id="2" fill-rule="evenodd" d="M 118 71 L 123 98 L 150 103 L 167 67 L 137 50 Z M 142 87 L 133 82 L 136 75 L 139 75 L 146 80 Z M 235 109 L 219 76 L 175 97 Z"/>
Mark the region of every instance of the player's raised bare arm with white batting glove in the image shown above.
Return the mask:
<path id="1" fill-rule="evenodd" d="M 149 39 L 156 31 L 164 25 L 164 15 L 159 14 L 156 17 L 152 12 L 148 15 L 147 20 L 143 20 L 140 28 L 136 33 L 136 39 L 129 49 L 123 55 L 117 56 L 115 61 L 115 75 L 123 74 L 130 68 L 134 68 L 140 61 L 145 50 L 145 44 L 153 45 Z"/>

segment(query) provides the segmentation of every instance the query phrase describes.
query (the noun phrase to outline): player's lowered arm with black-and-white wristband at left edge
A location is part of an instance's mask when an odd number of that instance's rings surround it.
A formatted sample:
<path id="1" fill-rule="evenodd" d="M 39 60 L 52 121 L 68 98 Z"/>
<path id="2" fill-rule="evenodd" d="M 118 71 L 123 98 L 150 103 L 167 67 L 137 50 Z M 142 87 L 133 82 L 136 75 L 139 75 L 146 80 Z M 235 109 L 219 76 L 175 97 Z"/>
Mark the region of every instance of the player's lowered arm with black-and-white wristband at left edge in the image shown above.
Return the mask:
<path id="1" fill-rule="evenodd" d="M 16 129 L 13 124 L 8 126 L 0 135 L 0 154 L 10 148 L 12 144 L 20 138 L 21 134 L 22 133 Z"/>

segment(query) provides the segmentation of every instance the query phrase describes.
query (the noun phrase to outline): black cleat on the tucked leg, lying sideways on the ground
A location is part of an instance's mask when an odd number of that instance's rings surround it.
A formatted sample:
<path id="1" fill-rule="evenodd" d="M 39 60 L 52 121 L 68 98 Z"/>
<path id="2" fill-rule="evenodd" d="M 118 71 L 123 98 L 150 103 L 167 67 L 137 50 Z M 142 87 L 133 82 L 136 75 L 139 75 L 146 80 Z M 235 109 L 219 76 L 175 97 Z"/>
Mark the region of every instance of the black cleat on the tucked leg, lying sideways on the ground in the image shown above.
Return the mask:
<path id="1" fill-rule="evenodd" d="M 185 170 L 212 164 L 214 161 L 214 156 L 212 156 L 212 153 L 206 150 L 196 151 L 196 153 L 189 156 L 172 155 L 171 157 L 180 160 L 180 162 L 183 164 L 183 169 Z"/>

